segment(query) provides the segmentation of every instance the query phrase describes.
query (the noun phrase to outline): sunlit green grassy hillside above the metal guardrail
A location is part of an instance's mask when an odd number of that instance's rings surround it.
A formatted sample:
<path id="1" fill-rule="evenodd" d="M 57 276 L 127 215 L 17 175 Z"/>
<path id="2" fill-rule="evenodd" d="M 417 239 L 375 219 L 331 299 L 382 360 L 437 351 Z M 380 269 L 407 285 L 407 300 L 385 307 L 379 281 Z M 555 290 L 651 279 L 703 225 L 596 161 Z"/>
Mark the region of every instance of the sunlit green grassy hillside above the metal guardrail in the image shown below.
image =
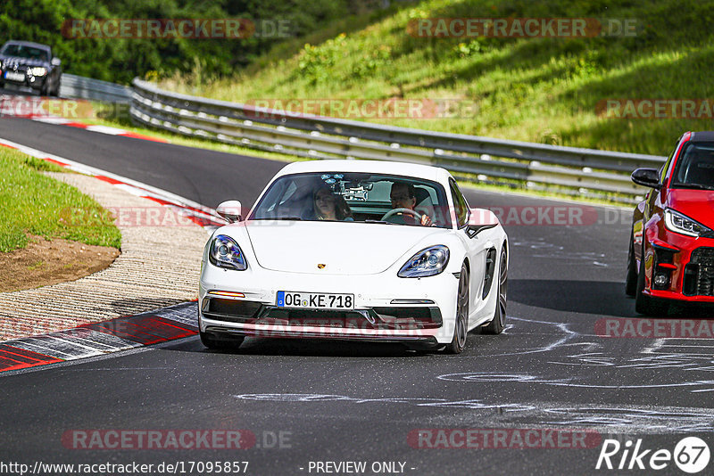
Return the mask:
<path id="1" fill-rule="evenodd" d="M 278 98 L 472 104 L 461 117 L 369 119 L 403 127 L 529 142 L 666 154 L 685 130 L 712 119 L 608 119 L 608 99 L 699 100 L 714 70 L 712 2 L 693 0 L 428 0 L 393 2 L 378 16 L 275 46 L 228 78 L 181 74 L 162 86 L 234 102 Z M 424 18 L 635 20 L 635 36 L 416 37 Z M 699 111 L 699 110 L 697 110 Z M 351 119 L 361 119 L 359 117 Z"/>

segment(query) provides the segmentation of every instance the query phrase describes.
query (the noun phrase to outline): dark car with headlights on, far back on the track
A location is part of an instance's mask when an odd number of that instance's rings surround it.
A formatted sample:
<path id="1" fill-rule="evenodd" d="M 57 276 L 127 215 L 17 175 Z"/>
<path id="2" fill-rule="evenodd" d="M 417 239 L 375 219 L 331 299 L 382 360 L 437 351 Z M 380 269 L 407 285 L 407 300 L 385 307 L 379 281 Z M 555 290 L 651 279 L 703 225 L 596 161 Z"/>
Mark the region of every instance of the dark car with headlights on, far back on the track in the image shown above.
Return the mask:
<path id="1" fill-rule="evenodd" d="M 0 48 L 0 87 L 31 87 L 41 95 L 60 94 L 62 62 L 47 45 L 8 41 Z"/>

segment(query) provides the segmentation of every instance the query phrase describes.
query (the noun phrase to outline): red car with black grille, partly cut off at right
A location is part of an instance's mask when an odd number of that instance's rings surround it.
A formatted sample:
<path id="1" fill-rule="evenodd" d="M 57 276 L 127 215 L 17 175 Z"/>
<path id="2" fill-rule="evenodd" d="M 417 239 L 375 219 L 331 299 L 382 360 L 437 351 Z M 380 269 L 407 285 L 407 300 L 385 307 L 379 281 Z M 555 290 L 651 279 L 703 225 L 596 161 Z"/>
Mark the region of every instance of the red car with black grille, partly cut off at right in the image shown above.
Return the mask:
<path id="1" fill-rule="evenodd" d="M 626 292 L 640 314 L 673 301 L 714 303 L 714 132 L 687 132 L 665 164 L 638 168 L 652 187 L 632 220 Z"/>

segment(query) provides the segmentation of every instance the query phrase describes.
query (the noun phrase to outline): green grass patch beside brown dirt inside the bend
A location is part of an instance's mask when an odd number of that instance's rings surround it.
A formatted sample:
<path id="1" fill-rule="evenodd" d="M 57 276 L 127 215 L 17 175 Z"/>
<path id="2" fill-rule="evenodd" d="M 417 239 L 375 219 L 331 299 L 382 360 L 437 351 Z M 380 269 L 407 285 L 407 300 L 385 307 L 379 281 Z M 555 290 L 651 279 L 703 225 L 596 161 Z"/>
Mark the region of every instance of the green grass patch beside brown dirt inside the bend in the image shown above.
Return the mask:
<path id="1" fill-rule="evenodd" d="M 0 252 L 24 248 L 29 235 L 120 248 L 111 216 L 92 198 L 41 172 L 62 172 L 45 160 L 0 148 Z M 72 210 L 92 210 L 95 220 L 72 223 Z"/>

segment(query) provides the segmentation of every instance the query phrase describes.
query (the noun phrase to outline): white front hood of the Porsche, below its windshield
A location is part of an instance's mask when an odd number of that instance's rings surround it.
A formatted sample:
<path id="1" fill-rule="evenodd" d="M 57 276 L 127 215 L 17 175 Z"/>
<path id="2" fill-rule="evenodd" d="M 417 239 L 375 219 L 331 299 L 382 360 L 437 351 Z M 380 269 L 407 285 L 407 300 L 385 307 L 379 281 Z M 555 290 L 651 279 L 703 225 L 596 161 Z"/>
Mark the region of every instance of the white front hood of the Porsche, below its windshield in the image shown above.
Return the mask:
<path id="1" fill-rule="evenodd" d="M 428 226 L 286 221 L 246 222 L 245 230 L 261 267 L 320 275 L 381 273 L 397 259 L 410 259 L 411 255 L 403 255 L 419 242 L 437 244 L 425 239 L 446 231 Z M 319 264 L 325 267 L 320 269 Z"/>

